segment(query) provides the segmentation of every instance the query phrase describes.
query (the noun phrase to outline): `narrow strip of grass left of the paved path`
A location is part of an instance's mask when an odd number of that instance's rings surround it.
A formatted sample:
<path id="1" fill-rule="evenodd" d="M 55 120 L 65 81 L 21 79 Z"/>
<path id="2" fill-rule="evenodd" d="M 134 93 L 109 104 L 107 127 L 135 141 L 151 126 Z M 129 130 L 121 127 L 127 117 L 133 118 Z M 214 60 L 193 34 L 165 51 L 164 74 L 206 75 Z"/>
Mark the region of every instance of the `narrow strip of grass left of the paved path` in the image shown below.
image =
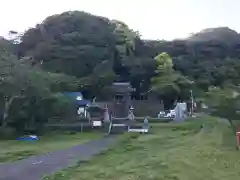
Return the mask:
<path id="1" fill-rule="evenodd" d="M 0 163 L 69 148 L 101 136 L 100 133 L 60 134 L 59 132 L 40 137 L 39 141 L 34 142 L 0 140 Z"/>

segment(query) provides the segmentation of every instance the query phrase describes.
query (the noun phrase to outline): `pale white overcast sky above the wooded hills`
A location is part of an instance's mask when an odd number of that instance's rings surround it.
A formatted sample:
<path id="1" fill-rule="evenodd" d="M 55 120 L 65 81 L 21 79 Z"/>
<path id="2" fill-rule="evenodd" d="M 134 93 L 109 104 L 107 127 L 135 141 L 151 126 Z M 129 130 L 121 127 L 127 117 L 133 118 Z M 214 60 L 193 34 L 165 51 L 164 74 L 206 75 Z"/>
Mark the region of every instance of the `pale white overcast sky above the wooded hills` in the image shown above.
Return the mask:
<path id="1" fill-rule="evenodd" d="M 240 32 L 239 7 L 240 0 L 1 0 L 0 36 L 70 10 L 123 21 L 144 39 L 186 38 L 221 26 Z"/>

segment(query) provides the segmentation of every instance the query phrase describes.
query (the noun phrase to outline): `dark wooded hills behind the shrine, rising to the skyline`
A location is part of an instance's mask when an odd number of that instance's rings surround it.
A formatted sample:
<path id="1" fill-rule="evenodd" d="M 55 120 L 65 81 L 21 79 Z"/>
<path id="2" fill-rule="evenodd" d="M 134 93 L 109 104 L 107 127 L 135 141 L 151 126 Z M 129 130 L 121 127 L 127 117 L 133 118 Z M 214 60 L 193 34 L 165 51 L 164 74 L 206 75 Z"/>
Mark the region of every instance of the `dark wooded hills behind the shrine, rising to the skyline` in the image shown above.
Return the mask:
<path id="1" fill-rule="evenodd" d="M 142 40 L 123 22 L 73 11 L 50 16 L 26 31 L 19 56 L 43 60 L 43 69 L 77 77 L 89 77 L 102 63 L 111 64 L 104 66 L 109 76 L 129 80 L 137 89 L 143 82 L 142 88 L 147 89 L 155 66 L 153 58 L 167 52 L 174 68 L 204 89 L 239 83 L 239 37 L 237 32 L 220 27 L 202 30 L 186 40 Z M 102 73 L 97 71 L 100 76 Z"/>

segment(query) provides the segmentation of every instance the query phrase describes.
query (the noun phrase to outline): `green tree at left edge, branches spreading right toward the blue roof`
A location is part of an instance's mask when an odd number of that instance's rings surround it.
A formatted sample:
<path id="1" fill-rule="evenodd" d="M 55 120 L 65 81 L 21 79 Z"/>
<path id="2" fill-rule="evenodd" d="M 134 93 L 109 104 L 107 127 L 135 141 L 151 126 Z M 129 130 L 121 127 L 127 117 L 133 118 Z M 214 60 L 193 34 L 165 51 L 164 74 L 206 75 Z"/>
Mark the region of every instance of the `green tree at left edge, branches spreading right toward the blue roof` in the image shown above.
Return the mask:
<path id="1" fill-rule="evenodd" d="M 6 49 L 0 49 L 0 97 L 2 100 L 1 125 L 6 127 L 14 101 L 39 104 L 52 93 L 66 89 L 77 89 L 82 84 L 74 77 L 44 72 L 20 61 Z M 46 105 L 45 105 L 46 106 Z"/>

